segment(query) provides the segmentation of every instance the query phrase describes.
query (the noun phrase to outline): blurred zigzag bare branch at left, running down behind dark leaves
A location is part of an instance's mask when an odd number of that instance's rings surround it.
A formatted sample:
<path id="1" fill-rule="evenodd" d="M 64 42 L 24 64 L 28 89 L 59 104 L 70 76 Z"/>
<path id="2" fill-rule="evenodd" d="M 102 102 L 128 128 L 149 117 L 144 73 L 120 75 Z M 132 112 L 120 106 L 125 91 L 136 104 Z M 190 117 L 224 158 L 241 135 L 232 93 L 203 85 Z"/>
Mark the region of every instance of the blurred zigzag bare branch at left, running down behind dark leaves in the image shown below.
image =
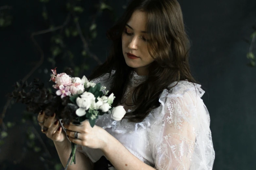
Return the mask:
<path id="1" fill-rule="evenodd" d="M 37 41 L 34 39 L 34 36 L 59 30 L 59 29 L 63 28 L 69 22 L 69 20 L 70 20 L 70 14 L 68 14 L 68 16 L 66 18 L 66 21 L 62 25 L 60 25 L 58 27 L 55 27 L 55 28 L 34 32 L 34 33 L 31 34 L 30 37 L 31 37 L 32 41 L 35 43 L 35 46 L 37 47 L 38 51 L 40 52 L 41 58 L 40 58 L 39 62 L 37 62 L 37 64 L 31 69 L 31 71 L 22 79 L 23 82 L 25 82 L 34 73 L 34 71 L 36 69 L 38 69 L 43 64 L 43 60 L 44 60 L 43 50 L 40 47 L 40 45 L 37 43 Z M 7 110 L 8 106 L 9 106 L 9 104 L 11 102 L 11 99 L 12 99 L 12 97 L 8 98 L 6 104 L 5 104 L 4 108 L 3 108 L 3 111 L 0 114 L 0 126 L 3 123 L 3 119 L 5 117 L 6 110 Z"/>

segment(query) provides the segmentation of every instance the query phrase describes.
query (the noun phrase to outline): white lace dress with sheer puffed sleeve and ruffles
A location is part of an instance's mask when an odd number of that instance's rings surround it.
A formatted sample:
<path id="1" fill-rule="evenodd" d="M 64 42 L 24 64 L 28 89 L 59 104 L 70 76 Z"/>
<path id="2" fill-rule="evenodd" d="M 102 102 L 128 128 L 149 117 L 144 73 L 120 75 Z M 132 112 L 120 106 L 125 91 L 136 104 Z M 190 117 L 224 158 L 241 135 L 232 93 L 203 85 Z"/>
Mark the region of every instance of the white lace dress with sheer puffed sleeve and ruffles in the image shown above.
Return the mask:
<path id="1" fill-rule="evenodd" d="M 132 74 L 125 93 L 127 101 L 131 101 L 134 87 L 147 78 L 138 76 L 135 71 Z M 105 81 L 108 76 L 105 74 L 92 81 L 100 82 L 110 90 L 109 82 Z M 210 116 L 201 99 L 204 91 L 201 85 L 195 85 L 196 90 L 193 83 L 185 80 L 170 91 L 163 90 L 159 99 L 161 105 L 140 123 L 123 120 L 121 125 L 120 121 L 104 114 L 99 116 L 96 125 L 114 136 L 138 159 L 158 170 L 212 170 L 215 152 L 209 127 Z M 125 104 L 122 106 L 127 112 L 134 109 Z M 105 156 L 100 149 L 77 145 L 77 150 L 93 163 Z"/>

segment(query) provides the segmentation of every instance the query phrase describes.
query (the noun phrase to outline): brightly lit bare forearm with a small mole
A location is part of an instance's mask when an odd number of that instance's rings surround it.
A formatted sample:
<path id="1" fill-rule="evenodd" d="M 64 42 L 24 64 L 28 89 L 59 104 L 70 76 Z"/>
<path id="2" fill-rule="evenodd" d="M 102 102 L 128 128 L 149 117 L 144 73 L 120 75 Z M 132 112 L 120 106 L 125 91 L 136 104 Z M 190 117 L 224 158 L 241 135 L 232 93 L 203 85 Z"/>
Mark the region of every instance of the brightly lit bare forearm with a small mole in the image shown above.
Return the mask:
<path id="1" fill-rule="evenodd" d="M 102 151 L 117 170 L 156 170 L 139 160 L 112 135 Z"/>

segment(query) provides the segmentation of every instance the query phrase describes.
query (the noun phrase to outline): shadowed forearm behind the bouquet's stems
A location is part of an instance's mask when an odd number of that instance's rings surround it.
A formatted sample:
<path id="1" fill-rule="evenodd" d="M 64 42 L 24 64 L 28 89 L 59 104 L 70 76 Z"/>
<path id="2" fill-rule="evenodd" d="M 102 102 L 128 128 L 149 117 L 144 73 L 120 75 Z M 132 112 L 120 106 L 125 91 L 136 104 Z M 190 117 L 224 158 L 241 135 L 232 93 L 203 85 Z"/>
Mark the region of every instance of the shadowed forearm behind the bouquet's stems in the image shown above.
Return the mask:
<path id="1" fill-rule="evenodd" d="M 60 157 L 60 162 L 63 167 L 66 167 L 68 158 L 71 153 L 71 142 L 66 138 L 63 142 L 54 142 L 58 155 Z M 69 162 L 67 170 L 93 170 L 93 165 L 90 163 L 89 158 L 87 158 L 83 153 L 76 150 L 76 164 Z"/>

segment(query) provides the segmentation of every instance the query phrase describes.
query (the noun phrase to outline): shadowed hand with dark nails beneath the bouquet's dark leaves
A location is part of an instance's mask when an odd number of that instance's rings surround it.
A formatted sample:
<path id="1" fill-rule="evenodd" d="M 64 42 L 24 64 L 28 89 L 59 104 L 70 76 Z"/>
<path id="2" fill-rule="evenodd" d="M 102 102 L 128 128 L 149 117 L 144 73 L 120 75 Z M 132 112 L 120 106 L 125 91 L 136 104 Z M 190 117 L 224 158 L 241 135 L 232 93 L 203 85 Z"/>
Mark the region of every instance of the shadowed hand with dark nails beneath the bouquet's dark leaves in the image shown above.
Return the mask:
<path id="1" fill-rule="evenodd" d="M 64 130 L 62 130 L 59 120 L 55 118 L 55 113 L 52 116 L 45 116 L 44 112 L 38 114 L 39 125 L 42 127 L 42 132 L 50 139 L 56 142 L 62 142 L 66 138 Z"/>

